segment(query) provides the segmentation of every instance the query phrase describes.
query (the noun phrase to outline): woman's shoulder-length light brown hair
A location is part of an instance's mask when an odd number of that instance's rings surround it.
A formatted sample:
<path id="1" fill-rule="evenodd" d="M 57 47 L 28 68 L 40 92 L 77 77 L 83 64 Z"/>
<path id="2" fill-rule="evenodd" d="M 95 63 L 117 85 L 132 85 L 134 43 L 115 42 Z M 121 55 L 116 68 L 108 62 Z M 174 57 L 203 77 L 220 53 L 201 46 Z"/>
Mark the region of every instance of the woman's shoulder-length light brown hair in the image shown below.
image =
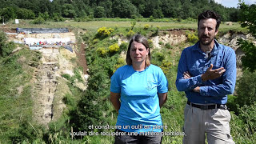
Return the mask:
<path id="1" fill-rule="evenodd" d="M 149 42 L 147 42 L 147 39 L 145 37 L 143 37 L 141 34 L 135 34 L 130 39 L 128 50 L 127 50 L 127 53 L 126 53 L 126 63 L 127 63 L 127 65 L 132 65 L 132 63 L 133 63 L 131 58 L 130 58 L 130 47 L 131 47 L 131 44 L 133 42 L 142 43 L 142 45 L 146 47 L 146 50 L 149 51 L 149 54 L 147 54 L 147 56 L 146 56 L 145 68 L 147 66 L 150 66 L 150 45 L 149 45 Z"/>

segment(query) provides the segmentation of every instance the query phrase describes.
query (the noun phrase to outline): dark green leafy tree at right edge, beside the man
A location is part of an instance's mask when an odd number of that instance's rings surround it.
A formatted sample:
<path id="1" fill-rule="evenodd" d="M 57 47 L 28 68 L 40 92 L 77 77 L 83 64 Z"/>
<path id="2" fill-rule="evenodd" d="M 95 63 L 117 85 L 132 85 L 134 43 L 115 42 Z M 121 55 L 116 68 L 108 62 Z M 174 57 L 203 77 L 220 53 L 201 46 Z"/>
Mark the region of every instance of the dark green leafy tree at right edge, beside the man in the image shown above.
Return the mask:
<path id="1" fill-rule="evenodd" d="M 256 14 L 255 5 L 248 6 L 244 2 L 240 4 L 240 14 L 239 18 L 241 21 L 242 27 L 247 27 L 249 29 L 250 34 L 255 34 L 255 24 L 256 18 L 254 14 Z M 240 107 L 242 106 L 251 106 L 256 102 L 256 46 L 253 42 L 248 42 L 243 39 L 238 39 L 238 46 L 245 53 L 242 56 L 242 66 L 243 66 L 243 74 L 242 78 L 238 80 L 238 90 L 237 90 L 237 102 Z"/>

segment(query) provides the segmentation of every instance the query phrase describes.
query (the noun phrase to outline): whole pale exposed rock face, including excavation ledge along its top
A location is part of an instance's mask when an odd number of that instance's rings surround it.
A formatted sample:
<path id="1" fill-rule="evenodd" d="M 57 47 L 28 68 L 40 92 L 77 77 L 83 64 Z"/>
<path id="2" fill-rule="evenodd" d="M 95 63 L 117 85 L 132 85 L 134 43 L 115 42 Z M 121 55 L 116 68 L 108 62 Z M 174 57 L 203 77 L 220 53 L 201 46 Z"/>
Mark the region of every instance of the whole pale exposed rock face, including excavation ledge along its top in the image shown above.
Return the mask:
<path id="1" fill-rule="evenodd" d="M 50 121 L 61 117 L 62 111 L 66 107 L 62 102 L 63 97 L 66 94 L 72 95 L 66 83 L 68 80 L 63 78 L 62 74 L 69 74 L 70 77 L 74 76 L 74 69 L 78 66 L 78 63 L 74 62 L 74 59 L 78 58 L 79 62 L 86 62 L 84 45 L 81 46 L 81 51 L 77 50 L 76 44 L 74 44 L 76 38 L 73 32 L 42 34 L 17 34 L 13 32 L 8 33 L 7 36 L 9 41 L 21 44 L 26 44 L 28 38 L 42 38 L 42 42 L 49 41 L 47 42 L 47 46 L 46 44 L 39 43 L 40 45 L 37 47 L 40 47 L 40 49 L 35 49 L 41 52 L 42 58 L 40 59 L 38 67 L 34 69 L 33 78 L 31 80 L 31 83 L 34 84 L 32 90 L 32 97 L 34 98 L 34 121 L 48 127 Z M 50 43 L 52 39 L 58 41 L 58 39 L 63 38 L 69 39 L 69 43 L 71 43 L 69 49 L 67 49 L 65 45 L 59 44 L 64 42 L 58 42 L 58 44 Z M 13 53 L 19 49 L 20 48 L 14 50 Z M 85 67 L 83 68 L 85 69 Z M 73 85 L 81 90 L 86 90 L 86 81 L 89 76 L 84 75 L 86 74 L 86 70 L 79 70 L 79 74 L 81 75 L 82 82 L 75 80 Z M 18 87 L 18 91 L 22 91 L 22 86 Z"/>

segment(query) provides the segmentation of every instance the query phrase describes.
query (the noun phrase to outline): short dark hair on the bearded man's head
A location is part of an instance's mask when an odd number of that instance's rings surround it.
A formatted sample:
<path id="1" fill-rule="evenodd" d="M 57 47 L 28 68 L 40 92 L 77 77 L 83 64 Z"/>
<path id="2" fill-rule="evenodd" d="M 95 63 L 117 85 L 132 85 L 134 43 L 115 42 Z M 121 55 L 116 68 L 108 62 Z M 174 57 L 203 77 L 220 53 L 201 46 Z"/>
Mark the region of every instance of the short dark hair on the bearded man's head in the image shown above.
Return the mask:
<path id="1" fill-rule="evenodd" d="M 201 19 L 208 19 L 208 18 L 214 18 L 216 20 L 216 22 L 217 22 L 216 31 L 217 31 L 219 25 L 221 24 L 221 18 L 217 13 L 215 13 L 214 11 L 211 11 L 211 10 L 206 10 L 198 15 L 198 27 L 199 27 L 199 22 Z"/>

